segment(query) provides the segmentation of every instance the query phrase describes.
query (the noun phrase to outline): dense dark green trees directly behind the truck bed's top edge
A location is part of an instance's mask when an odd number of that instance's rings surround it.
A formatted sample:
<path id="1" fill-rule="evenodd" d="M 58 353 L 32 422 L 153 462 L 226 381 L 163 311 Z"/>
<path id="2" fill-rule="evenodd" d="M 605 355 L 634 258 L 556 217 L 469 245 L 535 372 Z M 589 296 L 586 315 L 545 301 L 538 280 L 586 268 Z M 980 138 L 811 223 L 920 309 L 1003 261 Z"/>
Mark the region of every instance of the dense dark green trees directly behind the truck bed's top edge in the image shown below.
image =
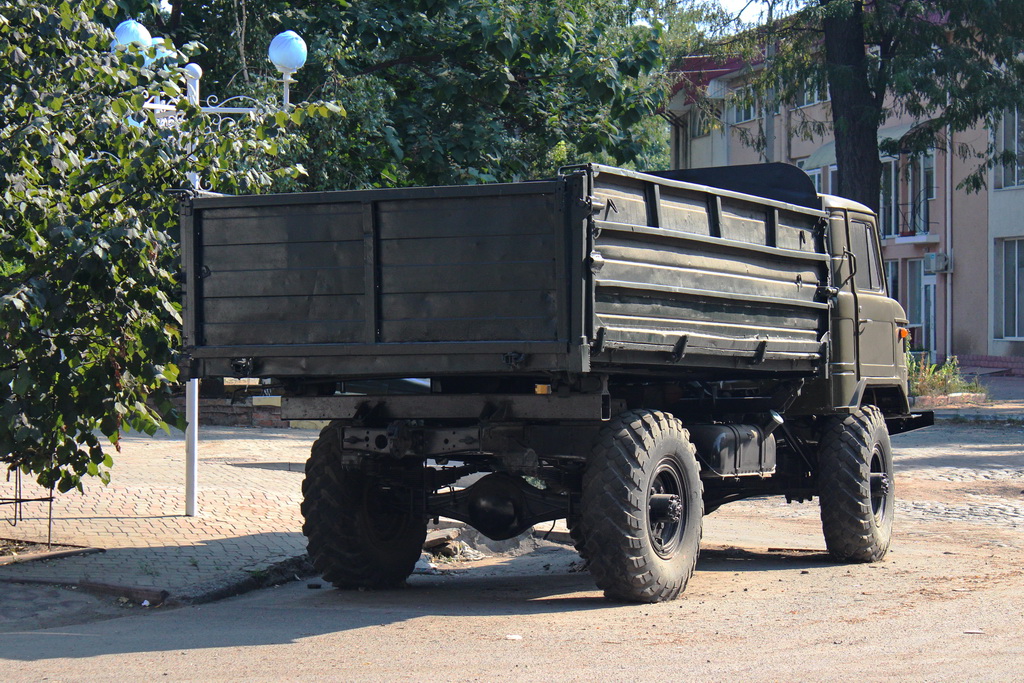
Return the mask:
<path id="1" fill-rule="evenodd" d="M 564 155 L 624 164 L 664 154 L 650 123 L 665 90 L 660 31 L 636 20 L 658 7 L 178 0 L 160 20 L 176 42 L 209 47 L 199 63 L 222 95 L 272 88 L 270 38 L 304 36 L 296 98 L 335 99 L 350 116 L 311 123 L 293 159 L 309 171 L 302 186 L 337 189 L 513 180 L 550 175 Z"/>

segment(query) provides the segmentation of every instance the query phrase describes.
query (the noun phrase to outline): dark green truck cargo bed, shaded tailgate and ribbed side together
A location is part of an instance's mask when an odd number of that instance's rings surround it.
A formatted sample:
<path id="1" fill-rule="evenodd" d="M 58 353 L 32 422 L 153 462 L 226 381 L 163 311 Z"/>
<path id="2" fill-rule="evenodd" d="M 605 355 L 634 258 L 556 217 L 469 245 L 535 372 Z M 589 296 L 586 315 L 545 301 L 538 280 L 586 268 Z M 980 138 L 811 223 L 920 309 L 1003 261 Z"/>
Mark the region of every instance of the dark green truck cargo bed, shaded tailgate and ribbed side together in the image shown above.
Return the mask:
<path id="1" fill-rule="evenodd" d="M 589 165 L 187 199 L 198 377 L 824 372 L 823 213 Z"/>

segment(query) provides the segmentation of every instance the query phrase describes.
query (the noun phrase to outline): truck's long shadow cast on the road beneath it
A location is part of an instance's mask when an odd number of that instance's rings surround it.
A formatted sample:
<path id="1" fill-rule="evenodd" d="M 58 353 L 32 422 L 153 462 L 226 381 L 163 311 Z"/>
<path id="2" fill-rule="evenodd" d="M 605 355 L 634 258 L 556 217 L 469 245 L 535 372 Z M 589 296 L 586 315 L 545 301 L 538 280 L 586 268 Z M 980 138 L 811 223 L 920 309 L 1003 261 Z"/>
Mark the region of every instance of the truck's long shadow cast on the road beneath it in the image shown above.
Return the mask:
<path id="1" fill-rule="evenodd" d="M 794 570 L 826 564 L 835 563 L 820 551 L 712 548 L 701 554 L 693 582 L 700 582 L 701 572 Z M 415 628 L 412 623 L 428 616 L 451 617 L 452 628 L 458 629 L 462 618 L 566 612 L 584 616 L 592 610 L 651 608 L 604 599 L 589 572 L 570 570 L 573 566 L 579 566 L 574 552 L 550 547 L 497 565 L 414 575 L 408 586 L 396 590 L 338 591 L 321 580 L 305 580 L 216 604 L 7 633 L 0 640 L 0 658 L 37 661 L 288 644 L 396 624 Z M 319 590 L 305 587 L 317 584 Z M 685 597 L 678 604 L 685 605 Z"/>

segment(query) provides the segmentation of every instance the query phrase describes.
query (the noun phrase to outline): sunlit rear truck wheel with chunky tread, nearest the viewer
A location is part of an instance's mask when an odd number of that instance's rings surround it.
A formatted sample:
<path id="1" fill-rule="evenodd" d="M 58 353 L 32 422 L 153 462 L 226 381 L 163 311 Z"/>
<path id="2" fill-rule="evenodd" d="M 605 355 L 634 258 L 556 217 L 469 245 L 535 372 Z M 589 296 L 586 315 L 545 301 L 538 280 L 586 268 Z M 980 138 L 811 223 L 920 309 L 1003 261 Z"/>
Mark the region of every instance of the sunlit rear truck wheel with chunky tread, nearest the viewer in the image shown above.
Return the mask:
<path id="1" fill-rule="evenodd" d="M 601 430 L 583 480 L 585 557 L 609 598 L 662 602 L 693 574 L 703 518 L 700 470 L 679 420 L 624 413 Z"/>

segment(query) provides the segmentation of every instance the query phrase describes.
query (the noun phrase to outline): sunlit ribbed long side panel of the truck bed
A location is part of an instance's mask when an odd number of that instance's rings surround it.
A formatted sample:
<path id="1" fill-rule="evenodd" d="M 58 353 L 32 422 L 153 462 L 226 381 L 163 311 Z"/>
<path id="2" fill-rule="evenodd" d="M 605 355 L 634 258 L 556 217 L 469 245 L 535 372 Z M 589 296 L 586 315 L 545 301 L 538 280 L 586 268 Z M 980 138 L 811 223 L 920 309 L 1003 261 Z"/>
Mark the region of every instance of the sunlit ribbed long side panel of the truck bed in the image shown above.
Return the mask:
<path id="1" fill-rule="evenodd" d="M 615 349 L 735 369 L 807 372 L 820 360 L 820 213 L 617 170 L 593 183 L 605 203 L 591 256 L 594 327 L 609 360 Z"/>

